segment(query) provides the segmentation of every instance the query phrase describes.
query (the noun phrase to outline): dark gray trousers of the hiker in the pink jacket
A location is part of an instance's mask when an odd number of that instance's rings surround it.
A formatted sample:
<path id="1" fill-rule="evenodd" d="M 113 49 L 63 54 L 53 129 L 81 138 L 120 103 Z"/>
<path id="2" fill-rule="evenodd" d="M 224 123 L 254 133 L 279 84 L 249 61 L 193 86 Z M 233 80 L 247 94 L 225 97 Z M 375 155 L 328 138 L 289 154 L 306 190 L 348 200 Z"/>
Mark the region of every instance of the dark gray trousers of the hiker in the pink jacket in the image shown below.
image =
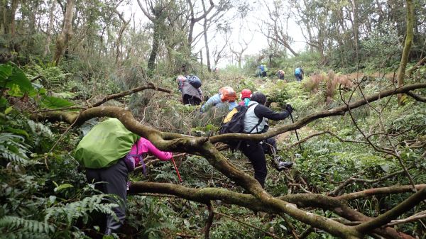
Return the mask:
<path id="1" fill-rule="evenodd" d="M 95 188 L 102 191 L 104 194 L 116 194 L 123 201 L 111 199 L 111 203 L 119 204 L 113 209 L 119 221 L 114 220 L 112 216 L 107 216 L 106 231 L 116 232 L 124 224 L 126 218 L 126 194 L 127 194 L 127 174 L 128 169 L 124 160 L 119 160 L 115 165 L 105 169 L 87 169 L 87 181 L 104 182 L 95 184 Z M 108 230 L 109 229 L 109 230 Z"/>

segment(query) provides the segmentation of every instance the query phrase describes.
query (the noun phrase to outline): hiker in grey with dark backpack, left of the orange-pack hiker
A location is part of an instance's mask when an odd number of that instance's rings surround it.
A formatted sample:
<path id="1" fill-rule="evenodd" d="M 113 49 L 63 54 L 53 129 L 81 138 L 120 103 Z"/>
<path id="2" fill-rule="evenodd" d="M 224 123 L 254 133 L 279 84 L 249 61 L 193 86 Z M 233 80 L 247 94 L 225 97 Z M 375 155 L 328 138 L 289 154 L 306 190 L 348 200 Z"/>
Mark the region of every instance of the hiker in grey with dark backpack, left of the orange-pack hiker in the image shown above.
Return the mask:
<path id="1" fill-rule="evenodd" d="M 176 78 L 180 93 L 182 93 L 182 104 L 190 104 L 192 106 L 201 104 L 203 99 L 201 91 L 201 80 L 195 75 L 186 77 L 179 75 Z"/>

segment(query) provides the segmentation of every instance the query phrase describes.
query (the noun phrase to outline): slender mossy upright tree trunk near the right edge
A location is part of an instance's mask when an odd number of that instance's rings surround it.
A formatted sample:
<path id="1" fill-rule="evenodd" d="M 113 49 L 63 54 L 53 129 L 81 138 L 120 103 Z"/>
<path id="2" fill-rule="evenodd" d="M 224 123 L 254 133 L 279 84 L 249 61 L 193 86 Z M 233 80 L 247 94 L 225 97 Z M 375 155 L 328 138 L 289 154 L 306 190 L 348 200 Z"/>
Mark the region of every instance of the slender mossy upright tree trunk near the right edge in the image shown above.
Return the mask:
<path id="1" fill-rule="evenodd" d="M 404 85 L 405 68 L 407 67 L 408 55 L 410 55 L 411 44 L 413 42 L 413 28 L 414 28 L 414 10 L 413 0 L 407 0 L 407 33 L 405 36 L 405 44 L 403 55 L 401 57 L 400 67 L 398 70 L 398 87 Z M 403 104 L 403 95 L 398 94 L 398 104 Z"/>

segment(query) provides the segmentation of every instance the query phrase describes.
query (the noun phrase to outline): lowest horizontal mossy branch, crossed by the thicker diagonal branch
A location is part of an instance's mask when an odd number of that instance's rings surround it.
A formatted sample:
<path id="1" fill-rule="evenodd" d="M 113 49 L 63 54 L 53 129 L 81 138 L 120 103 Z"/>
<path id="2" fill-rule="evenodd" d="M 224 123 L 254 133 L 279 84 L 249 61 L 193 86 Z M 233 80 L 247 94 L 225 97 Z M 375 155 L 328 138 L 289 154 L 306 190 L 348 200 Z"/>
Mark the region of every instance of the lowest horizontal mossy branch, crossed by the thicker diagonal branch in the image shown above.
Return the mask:
<path id="1" fill-rule="evenodd" d="M 378 193 L 383 194 L 398 194 L 408 191 L 411 186 L 395 186 L 389 187 L 386 192 L 383 189 L 371 189 Z M 418 189 L 426 189 L 425 184 L 416 185 Z M 229 191 L 227 189 L 220 188 L 202 188 L 193 189 L 182 185 L 170 184 L 170 183 L 157 183 L 157 182 L 135 182 L 130 187 L 131 194 L 140 193 L 156 193 L 156 194 L 168 194 L 178 196 L 182 199 L 190 201 L 197 201 L 202 204 L 209 204 L 212 200 L 221 200 L 226 204 L 233 204 L 242 206 L 253 211 L 263 211 L 267 213 L 280 214 L 284 211 L 271 208 L 268 204 L 257 199 L 251 194 L 240 194 L 235 191 Z M 356 192 L 355 194 L 359 194 Z M 322 194 L 291 194 L 280 196 L 278 198 L 285 203 L 289 202 L 295 204 L 299 208 L 315 208 L 334 211 L 337 215 L 342 216 L 349 221 L 361 221 L 367 222 L 373 220 L 368 216 L 351 209 L 345 204 L 345 200 L 339 199 L 339 197 L 324 196 Z M 292 206 L 290 204 L 290 206 Z M 293 206 L 295 207 L 295 206 Z M 385 238 L 413 238 L 410 235 L 404 233 L 398 233 L 394 228 L 376 228 L 373 233 L 377 233 Z"/>

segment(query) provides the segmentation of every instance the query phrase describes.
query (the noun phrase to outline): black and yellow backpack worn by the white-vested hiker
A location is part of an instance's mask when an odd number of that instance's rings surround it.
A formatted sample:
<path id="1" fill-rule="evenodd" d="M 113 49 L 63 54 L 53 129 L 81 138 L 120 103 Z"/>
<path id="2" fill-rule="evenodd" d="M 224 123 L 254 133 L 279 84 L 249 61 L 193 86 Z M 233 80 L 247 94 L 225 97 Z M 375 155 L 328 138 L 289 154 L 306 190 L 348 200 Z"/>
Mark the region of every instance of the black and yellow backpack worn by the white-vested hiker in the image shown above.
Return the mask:
<path id="1" fill-rule="evenodd" d="M 222 126 L 219 128 L 219 135 L 224 133 L 244 133 L 244 116 L 246 115 L 247 110 L 256 104 L 251 104 L 250 106 L 236 106 L 236 112 L 231 111 L 228 113 L 226 118 L 229 118 L 230 114 L 232 118 L 226 123 L 222 123 Z M 261 124 L 263 118 L 259 119 L 259 122 L 254 126 L 249 133 L 251 133 L 259 124 Z M 241 140 L 227 140 L 225 142 L 231 149 L 237 150 L 241 144 Z"/>

